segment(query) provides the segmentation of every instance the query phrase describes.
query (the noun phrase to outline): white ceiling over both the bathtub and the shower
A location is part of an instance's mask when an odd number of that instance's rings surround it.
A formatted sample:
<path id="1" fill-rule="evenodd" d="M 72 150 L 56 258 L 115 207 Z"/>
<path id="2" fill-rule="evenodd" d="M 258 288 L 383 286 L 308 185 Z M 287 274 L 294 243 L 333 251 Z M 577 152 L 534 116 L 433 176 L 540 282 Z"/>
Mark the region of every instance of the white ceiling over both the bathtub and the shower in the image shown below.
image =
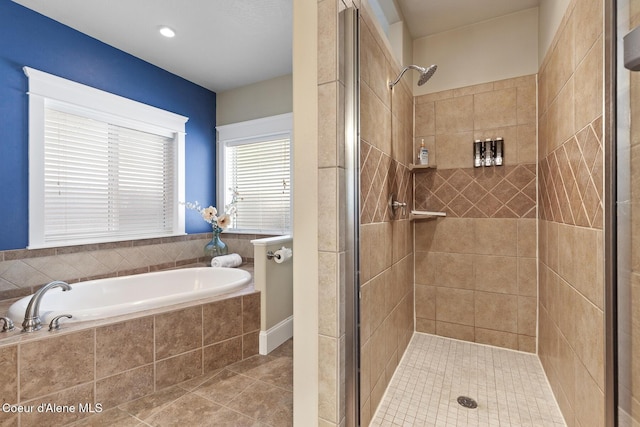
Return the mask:
<path id="1" fill-rule="evenodd" d="M 293 0 L 13 1 L 214 92 L 291 73 Z M 413 38 L 540 3 L 378 1 L 390 23 L 404 16 Z M 160 36 L 161 25 L 172 27 L 176 37 Z"/>

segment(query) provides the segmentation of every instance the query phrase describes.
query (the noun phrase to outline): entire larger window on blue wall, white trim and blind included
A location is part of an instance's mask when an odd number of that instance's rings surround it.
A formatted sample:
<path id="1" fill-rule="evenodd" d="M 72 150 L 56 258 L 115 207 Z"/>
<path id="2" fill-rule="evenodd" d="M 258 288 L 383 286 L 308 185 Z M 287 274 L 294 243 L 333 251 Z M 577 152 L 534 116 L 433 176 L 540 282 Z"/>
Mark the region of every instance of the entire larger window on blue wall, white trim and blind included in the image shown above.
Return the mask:
<path id="1" fill-rule="evenodd" d="M 188 119 L 24 70 L 29 248 L 184 234 Z"/>

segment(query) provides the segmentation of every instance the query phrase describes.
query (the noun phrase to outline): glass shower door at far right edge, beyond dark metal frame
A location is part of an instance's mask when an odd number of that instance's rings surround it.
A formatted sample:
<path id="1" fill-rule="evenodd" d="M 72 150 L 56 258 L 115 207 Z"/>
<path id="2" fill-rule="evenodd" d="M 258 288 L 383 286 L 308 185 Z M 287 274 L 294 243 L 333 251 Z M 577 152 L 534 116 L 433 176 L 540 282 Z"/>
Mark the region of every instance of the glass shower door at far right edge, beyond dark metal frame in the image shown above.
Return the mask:
<path id="1" fill-rule="evenodd" d="M 640 72 L 637 71 L 640 70 L 640 0 L 621 0 L 616 8 L 616 412 L 618 425 L 637 426 L 640 425 L 640 357 L 637 355 L 640 346 Z M 637 29 L 635 33 L 634 29 Z M 632 61 L 636 51 L 638 66 Z"/>

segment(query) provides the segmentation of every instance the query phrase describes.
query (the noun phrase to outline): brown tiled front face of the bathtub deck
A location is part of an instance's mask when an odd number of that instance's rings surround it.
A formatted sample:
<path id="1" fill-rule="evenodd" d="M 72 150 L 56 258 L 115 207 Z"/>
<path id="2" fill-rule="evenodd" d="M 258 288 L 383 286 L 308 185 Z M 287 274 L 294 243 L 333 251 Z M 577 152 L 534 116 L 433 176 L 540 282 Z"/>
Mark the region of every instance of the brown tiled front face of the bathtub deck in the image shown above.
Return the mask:
<path id="1" fill-rule="evenodd" d="M 258 353 L 260 293 L 244 294 L 114 323 L 49 333 L 17 333 L 0 342 L 2 404 L 70 405 L 76 412 L 0 412 L 0 425 L 63 425 L 175 384 L 216 372 Z M 213 328 L 211 325 L 216 325 Z M 84 329 L 83 329 L 83 326 Z M 95 406 L 94 406 L 95 407 Z"/>

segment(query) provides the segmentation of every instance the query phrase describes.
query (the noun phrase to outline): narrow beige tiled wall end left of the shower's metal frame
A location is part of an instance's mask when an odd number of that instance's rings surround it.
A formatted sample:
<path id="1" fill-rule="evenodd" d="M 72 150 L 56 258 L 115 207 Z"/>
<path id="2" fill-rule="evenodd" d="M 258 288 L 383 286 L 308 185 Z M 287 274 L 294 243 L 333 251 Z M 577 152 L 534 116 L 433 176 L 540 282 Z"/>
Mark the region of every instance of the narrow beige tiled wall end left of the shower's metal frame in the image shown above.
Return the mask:
<path id="1" fill-rule="evenodd" d="M 338 426 L 346 416 L 347 201 L 340 17 L 344 7 L 342 1 L 318 1 L 318 425 L 322 426 Z"/>

